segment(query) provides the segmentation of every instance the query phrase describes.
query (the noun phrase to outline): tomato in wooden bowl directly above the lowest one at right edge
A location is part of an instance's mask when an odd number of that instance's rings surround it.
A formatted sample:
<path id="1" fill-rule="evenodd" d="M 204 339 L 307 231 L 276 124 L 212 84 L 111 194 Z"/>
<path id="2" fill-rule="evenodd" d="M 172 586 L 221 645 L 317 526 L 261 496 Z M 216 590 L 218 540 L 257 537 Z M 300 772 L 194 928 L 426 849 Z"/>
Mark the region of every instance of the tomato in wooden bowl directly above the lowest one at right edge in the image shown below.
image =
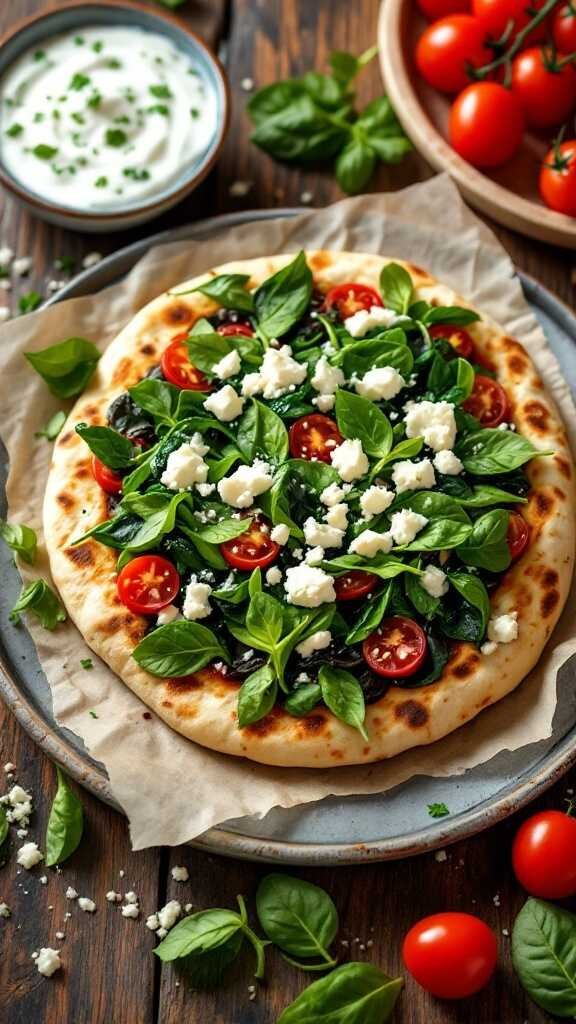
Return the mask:
<path id="1" fill-rule="evenodd" d="M 512 92 L 529 124 L 561 125 L 576 103 L 576 72 L 560 65 L 562 57 L 546 47 L 532 46 L 512 60 Z"/>

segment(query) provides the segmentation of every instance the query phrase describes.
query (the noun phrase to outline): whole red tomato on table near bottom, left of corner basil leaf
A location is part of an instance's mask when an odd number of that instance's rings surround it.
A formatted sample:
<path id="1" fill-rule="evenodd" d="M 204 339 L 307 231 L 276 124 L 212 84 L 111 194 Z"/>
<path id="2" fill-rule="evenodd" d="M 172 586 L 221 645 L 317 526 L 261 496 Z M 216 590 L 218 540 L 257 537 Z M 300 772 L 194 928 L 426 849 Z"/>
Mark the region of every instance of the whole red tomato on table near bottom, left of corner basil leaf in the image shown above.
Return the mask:
<path id="1" fill-rule="evenodd" d="M 483 988 L 496 967 L 494 933 L 471 913 L 433 913 L 414 925 L 402 955 L 413 978 L 441 999 L 463 999 Z"/>

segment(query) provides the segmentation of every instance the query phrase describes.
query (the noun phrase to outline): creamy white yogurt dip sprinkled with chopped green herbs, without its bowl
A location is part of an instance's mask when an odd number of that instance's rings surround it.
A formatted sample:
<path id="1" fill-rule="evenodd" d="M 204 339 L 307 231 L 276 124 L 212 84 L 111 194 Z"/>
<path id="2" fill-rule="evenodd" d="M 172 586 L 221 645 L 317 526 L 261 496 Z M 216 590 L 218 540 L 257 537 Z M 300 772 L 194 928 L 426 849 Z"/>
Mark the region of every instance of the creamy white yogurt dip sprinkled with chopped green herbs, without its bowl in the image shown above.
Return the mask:
<path id="1" fill-rule="evenodd" d="M 82 29 L 0 80 L 0 159 L 45 201 L 109 211 L 153 201 L 206 151 L 216 99 L 191 57 L 138 28 Z"/>

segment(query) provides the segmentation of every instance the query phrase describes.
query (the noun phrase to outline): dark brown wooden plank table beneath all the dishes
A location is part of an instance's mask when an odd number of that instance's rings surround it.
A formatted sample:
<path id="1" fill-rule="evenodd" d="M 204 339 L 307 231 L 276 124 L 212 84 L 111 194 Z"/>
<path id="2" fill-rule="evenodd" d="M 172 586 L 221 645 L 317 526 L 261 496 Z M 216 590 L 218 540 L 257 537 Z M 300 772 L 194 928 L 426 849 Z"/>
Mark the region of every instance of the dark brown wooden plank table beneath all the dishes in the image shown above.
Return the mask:
<path id="1" fill-rule="evenodd" d="M 42 6 L 41 0 L 10 0 L 0 4 L 0 31 Z M 248 141 L 244 114 L 245 78 L 264 85 L 288 74 L 323 68 L 331 49 L 362 52 L 375 39 L 377 0 L 190 0 L 182 16 L 223 55 L 232 84 L 233 115 L 222 157 L 210 178 L 184 204 L 161 223 L 139 232 L 108 237 L 67 233 L 29 217 L 4 197 L 0 241 L 18 255 L 32 255 L 34 268 L 12 293 L 35 288 L 46 295 L 47 281 L 60 278 L 53 260 L 73 256 L 77 265 L 87 252 L 109 253 L 150 231 L 186 223 L 209 213 L 241 208 L 295 205 L 311 193 L 313 205 L 339 198 L 330 175 L 303 173 L 273 163 Z M 369 99 L 381 91 L 377 67 L 365 72 L 360 88 Z M 390 190 L 428 177 L 425 161 L 413 155 L 401 167 L 382 169 L 374 190 Z M 235 180 L 252 182 L 243 199 L 230 195 Z M 492 225 L 495 226 L 495 225 Z M 538 278 L 562 299 L 573 299 L 571 261 L 566 252 L 530 242 L 495 226 L 518 266 Z M 0 304 L 4 299 L 1 298 Z M 0 763 L 17 765 L 17 780 L 31 790 L 36 813 L 31 838 L 42 841 L 54 788 L 54 772 L 47 759 L 0 708 L 2 733 Z M 562 807 L 576 776 L 567 776 L 549 791 L 538 806 Z M 273 1024 L 306 983 L 272 952 L 268 981 L 254 1001 L 248 998 L 252 982 L 251 958 L 242 957 L 230 981 L 215 993 L 197 994 L 176 984 L 170 969 L 160 969 L 152 955 L 154 935 L 143 923 L 146 913 L 169 898 L 191 902 L 197 908 L 229 906 L 236 893 L 249 901 L 265 866 L 224 860 L 188 848 L 130 852 L 124 818 L 83 794 L 86 831 L 81 849 L 61 874 L 15 869 L 12 853 L 0 870 L 0 900 L 12 909 L 9 921 L 0 921 L 0 1018 L 4 1024 Z M 390 974 L 402 971 L 400 948 L 408 927 L 423 914 L 440 909 L 479 913 L 499 937 L 500 962 L 491 985 L 465 1005 L 442 1004 L 429 998 L 410 979 L 396 1011 L 403 1024 L 522 1024 L 541 1022 L 541 1014 L 523 994 L 511 969 L 508 932 L 524 894 L 510 871 L 509 848 L 521 816 L 508 819 L 489 833 L 458 843 L 445 862 L 434 855 L 397 863 L 356 868 L 302 870 L 304 878 L 324 886 L 333 895 L 341 915 L 340 939 L 351 941 L 357 958 L 369 958 Z M 186 864 L 191 880 L 176 884 L 170 876 L 174 864 Z M 125 871 L 123 879 L 120 872 Z M 67 886 L 93 896 L 97 910 L 82 913 L 65 898 Z M 109 889 L 134 890 L 140 899 L 138 921 L 121 918 L 109 906 Z M 65 913 L 73 911 L 65 922 Z M 55 939 L 56 931 L 66 939 Z M 373 941 L 362 951 L 361 943 Z M 359 940 L 356 941 L 355 940 Z M 51 980 L 42 978 L 31 959 L 41 945 L 61 947 L 65 970 Z M 347 950 L 342 947 L 342 954 Z"/>

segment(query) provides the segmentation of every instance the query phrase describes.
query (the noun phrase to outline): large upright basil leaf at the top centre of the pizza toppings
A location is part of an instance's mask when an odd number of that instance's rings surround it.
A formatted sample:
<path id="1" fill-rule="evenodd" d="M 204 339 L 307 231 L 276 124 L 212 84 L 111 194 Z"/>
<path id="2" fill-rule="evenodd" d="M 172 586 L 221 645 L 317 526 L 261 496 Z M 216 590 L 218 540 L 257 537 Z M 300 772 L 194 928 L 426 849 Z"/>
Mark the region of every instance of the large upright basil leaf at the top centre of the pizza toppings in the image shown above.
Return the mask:
<path id="1" fill-rule="evenodd" d="M 305 313 L 312 297 L 312 270 L 305 253 L 272 278 L 254 293 L 254 311 L 259 330 L 268 338 L 281 338 Z"/>

